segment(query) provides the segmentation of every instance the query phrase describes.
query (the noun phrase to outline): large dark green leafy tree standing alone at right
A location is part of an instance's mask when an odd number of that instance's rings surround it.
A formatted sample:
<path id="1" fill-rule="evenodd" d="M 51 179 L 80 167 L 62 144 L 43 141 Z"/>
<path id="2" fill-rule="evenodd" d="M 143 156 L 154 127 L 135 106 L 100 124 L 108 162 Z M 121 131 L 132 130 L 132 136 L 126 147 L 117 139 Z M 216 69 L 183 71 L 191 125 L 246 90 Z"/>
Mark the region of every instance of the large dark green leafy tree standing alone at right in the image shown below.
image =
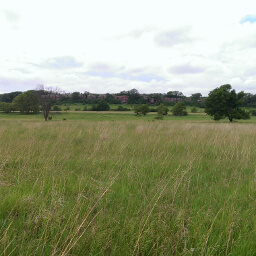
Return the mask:
<path id="1" fill-rule="evenodd" d="M 240 108 L 243 104 L 244 92 L 236 93 L 230 84 L 225 84 L 211 91 L 205 100 L 205 112 L 214 120 L 228 118 L 249 119 L 249 112 Z"/>

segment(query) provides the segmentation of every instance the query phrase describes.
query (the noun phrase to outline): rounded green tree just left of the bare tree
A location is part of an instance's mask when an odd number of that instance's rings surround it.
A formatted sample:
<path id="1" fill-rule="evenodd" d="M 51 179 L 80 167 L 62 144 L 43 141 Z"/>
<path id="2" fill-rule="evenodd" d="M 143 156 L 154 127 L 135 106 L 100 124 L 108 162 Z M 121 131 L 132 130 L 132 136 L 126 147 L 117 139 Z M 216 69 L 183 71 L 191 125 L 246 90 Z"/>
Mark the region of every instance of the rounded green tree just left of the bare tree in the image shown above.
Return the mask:
<path id="1" fill-rule="evenodd" d="M 21 114 L 36 114 L 39 112 L 39 101 L 34 91 L 19 94 L 13 100 L 13 105 Z"/>

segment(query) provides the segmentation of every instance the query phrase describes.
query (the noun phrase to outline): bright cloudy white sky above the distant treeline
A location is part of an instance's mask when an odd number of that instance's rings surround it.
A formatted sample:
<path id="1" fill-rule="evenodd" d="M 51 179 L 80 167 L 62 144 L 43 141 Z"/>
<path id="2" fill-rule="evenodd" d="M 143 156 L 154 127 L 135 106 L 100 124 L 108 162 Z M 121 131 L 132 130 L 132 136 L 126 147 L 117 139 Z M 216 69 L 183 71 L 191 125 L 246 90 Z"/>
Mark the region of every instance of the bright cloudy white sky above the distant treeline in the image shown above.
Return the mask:
<path id="1" fill-rule="evenodd" d="M 1 0 L 0 93 L 256 94 L 255 0 Z"/>

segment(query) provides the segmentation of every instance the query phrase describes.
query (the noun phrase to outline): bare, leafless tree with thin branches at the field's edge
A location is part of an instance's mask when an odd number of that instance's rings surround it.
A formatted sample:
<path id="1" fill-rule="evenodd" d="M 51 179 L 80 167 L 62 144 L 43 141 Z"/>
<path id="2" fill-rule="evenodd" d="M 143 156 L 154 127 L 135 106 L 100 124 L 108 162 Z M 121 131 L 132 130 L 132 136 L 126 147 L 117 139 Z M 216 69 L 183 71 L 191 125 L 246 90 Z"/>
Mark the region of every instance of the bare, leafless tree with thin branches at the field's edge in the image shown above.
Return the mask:
<path id="1" fill-rule="evenodd" d="M 42 112 L 44 115 L 44 120 L 47 121 L 49 117 L 49 113 L 53 104 L 59 98 L 61 93 L 60 88 L 45 88 L 44 85 L 38 85 L 37 87 L 37 95 L 40 105 L 42 106 Z"/>

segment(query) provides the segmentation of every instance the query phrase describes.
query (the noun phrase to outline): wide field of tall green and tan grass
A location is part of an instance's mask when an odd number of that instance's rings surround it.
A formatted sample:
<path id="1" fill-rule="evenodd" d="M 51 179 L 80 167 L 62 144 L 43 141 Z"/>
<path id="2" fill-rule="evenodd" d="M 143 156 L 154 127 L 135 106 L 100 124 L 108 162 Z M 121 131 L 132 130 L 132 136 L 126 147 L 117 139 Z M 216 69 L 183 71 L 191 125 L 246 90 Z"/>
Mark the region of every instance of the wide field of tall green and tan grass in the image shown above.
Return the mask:
<path id="1" fill-rule="evenodd" d="M 0 114 L 0 255 L 255 255 L 256 120 L 153 117 Z"/>

